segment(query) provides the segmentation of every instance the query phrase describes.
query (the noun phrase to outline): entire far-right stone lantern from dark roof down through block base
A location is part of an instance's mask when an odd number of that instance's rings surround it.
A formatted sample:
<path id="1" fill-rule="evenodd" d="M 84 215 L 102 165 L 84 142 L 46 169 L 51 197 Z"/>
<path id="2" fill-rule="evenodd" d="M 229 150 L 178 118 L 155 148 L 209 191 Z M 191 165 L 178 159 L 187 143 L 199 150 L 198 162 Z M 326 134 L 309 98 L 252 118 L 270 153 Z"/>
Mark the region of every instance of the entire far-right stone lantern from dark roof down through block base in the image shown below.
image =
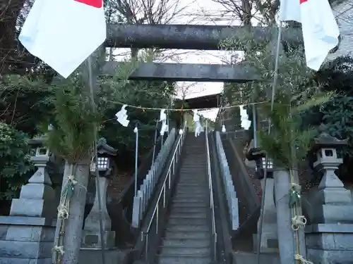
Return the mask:
<path id="1" fill-rule="evenodd" d="M 311 225 L 306 227 L 308 258 L 313 263 L 349 264 L 353 260 L 353 204 L 350 191 L 335 175 L 342 158 L 337 147 L 347 144 L 322 133 L 316 139 L 313 167 L 323 172 L 318 189 L 311 191 Z"/>

